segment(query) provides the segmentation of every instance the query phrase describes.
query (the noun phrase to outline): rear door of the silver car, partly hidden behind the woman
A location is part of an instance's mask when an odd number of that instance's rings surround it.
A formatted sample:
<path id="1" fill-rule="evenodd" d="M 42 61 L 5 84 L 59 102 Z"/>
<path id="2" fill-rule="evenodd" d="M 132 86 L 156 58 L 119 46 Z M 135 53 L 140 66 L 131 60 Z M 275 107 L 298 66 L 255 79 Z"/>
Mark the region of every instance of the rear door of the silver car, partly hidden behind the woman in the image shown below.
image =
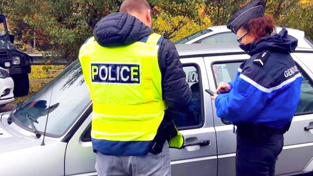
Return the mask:
<path id="1" fill-rule="evenodd" d="M 215 85 L 211 86 L 216 87 L 221 81 L 229 82 L 233 80 L 236 75 L 236 68 L 242 62 L 240 59 L 247 58 L 249 58 L 248 55 L 205 58 L 205 64 L 210 65 L 209 67 L 207 66 L 209 82 L 213 80 L 215 83 Z M 310 98 L 308 98 L 309 95 L 313 95 L 313 84 L 307 74 L 312 75 L 312 73 L 299 59 L 296 57 L 294 59 L 303 75 L 301 100 L 290 130 L 284 135 L 285 145 L 276 163 L 276 175 L 301 173 L 313 155 L 311 152 L 313 149 L 312 134 L 304 130 L 304 127 L 313 125 L 313 116 L 310 115 L 313 104 Z M 215 110 L 214 107 L 214 112 Z M 216 114 L 214 114 L 214 120 L 218 143 L 218 175 L 235 175 L 236 136 L 233 134 L 233 126 L 226 125 L 226 122 L 222 122 Z"/>

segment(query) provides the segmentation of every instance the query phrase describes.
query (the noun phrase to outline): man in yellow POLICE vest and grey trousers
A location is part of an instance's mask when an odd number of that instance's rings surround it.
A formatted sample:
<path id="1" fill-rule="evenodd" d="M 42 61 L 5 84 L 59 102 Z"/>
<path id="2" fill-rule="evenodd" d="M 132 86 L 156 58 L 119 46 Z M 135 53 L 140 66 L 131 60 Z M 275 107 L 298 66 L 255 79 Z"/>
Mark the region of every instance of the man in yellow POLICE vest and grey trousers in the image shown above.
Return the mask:
<path id="1" fill-rule="evenodd" d="M 151 29 L 146 0 L 124 1 L 93 34 L 79 59 L 93 101 L 98 175 L 171 175 L 169 146 L 181 148 L 183 137 L 165 110 L 191 101 L 174 44 Z"/>

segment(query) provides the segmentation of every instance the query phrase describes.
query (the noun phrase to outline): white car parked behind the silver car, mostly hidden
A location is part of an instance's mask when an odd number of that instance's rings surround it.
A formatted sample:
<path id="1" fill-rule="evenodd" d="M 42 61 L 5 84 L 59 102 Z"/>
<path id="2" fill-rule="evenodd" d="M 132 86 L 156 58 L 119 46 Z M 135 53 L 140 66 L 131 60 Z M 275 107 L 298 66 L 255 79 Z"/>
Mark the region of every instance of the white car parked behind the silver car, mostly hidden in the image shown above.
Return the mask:
<path id="1" fill-rule="evenodd" d="M 281 31 L 281 27 L 276 27 L 276 32 Z M 288 34 L 298 39 L 299 48 L 313 49 L 313 42 L 305 36 L 305 33 L 298 29 L 286 28 Z M 175 42 L 175 44 L 238 44 L 237 36 L 229 30 L 226 25 L 213 26 L 202 31 L 191 34 Z"/>

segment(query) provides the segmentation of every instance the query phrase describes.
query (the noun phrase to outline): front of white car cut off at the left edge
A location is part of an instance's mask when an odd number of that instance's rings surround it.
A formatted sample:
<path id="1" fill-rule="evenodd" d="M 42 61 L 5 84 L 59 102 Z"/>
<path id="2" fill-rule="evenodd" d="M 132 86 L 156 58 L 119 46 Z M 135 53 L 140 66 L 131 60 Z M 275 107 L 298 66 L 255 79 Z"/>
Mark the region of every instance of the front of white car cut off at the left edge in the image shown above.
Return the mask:
<path id="1" fill-rule="evenodd" d="M 7 70 L 0 67 L 0 108 L 14 100 L 14 82 Z"/>

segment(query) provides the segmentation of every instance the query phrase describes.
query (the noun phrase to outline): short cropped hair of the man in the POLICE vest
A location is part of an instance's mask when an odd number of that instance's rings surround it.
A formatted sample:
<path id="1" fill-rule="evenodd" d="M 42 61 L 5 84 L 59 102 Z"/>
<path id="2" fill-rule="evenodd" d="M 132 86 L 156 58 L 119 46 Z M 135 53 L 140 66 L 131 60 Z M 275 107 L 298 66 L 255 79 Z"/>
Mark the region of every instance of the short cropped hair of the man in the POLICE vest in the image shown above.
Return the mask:
<path id="1" fill-rule="evenodd" d="M 125 0 L 120 8 L 120 12 L 129 13 L 129 12 L 139 12 L 143 10 L 150 9 L 151 7 L 146 0 Z"/>

